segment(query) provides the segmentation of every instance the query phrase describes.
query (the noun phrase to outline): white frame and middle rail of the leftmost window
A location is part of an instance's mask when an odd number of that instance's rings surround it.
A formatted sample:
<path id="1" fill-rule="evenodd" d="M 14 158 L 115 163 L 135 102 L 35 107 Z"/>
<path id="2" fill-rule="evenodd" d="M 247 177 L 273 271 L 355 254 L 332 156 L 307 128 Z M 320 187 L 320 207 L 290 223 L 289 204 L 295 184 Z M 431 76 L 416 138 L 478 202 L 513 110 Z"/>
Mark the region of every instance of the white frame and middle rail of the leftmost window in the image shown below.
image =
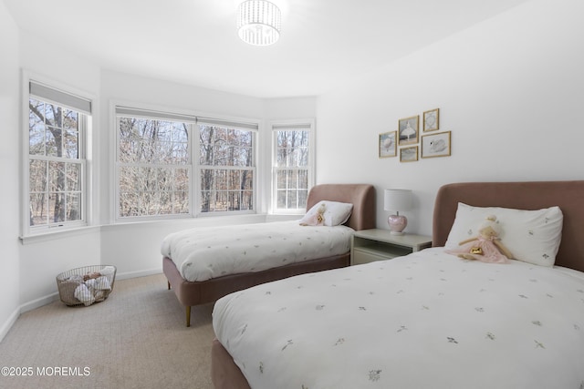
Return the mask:
<path id="1" fill-rule="evenodd" d="M 33 89 L 35 91 L 33 91 Z M 50 97 L 49 97 L 50 96 Z M 58 107 L 67 108 L 78 113 L 78 159 L 68 159 L 56 156 L 36 156 L 30 155 L 30 99 L 53 104 Z M 21 118 L 21 238 L 35 237 L 46 234 L 53 234 L 60 231 L 78 230 L 88 227 L 92 215 L 92 196 L 90 194 L 90 182 L 92 179 L 90 148 L 91 134 L 93 125 L 93 115 L 95 115 L 95 97 L 86 91 L 69 87 L 63 83 L 52 79 L 40 77 L 26 70 L 22 71 L 22 109 Z M 75 107 L 76 104 L 85 107 Z M 31 226 L 30 225 L 30 161 L 47 160 L 55 162 L 65 162 L 79 164 L 79 200 L 80 200 L 80 217 L 78 220 L 65 220 L 58 222 L 49 222 L 47 224 Z M 47 184 L 48 185 L 48 184 Z M 67 195 L 67 191 L 65 192 Z"/>

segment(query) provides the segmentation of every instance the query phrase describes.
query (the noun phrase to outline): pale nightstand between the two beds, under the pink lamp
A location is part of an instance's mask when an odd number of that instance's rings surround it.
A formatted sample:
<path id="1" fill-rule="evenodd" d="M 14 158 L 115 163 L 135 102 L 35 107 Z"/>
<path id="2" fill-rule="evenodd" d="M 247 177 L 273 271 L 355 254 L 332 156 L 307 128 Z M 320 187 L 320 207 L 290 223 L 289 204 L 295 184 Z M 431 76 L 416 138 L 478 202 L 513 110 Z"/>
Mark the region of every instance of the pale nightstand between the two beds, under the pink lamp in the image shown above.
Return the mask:
<path id="1" fill-rule="evenodd" d="M 389 230 L 356 231 L 350 240 L 350 264 L 391 260 L 432 246 L 432 237 L 405 233 L 391 235 Z"/>

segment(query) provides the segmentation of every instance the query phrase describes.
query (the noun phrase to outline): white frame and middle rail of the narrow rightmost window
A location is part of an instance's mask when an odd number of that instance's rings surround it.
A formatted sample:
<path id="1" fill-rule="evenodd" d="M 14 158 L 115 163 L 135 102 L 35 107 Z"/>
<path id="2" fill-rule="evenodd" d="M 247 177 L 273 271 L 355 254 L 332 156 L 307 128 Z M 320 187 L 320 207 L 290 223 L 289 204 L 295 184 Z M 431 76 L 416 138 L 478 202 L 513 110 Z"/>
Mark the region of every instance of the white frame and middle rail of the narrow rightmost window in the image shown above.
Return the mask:
<path id="1" fill-rule="evenodd" d="M 279 120 L 271 121 L 270 128 L 270 145 L 271 145 L 271 213 L 282 214 L 282 215 L 297 215 L 304 214 L 306 212 L 306 204 L 302 208 L 278 208 L 277 206 L 277 172 L 281 169 L 298 169 L 297 167 L 287 167 L 279 168 L 277 167 L 277 137 L 276 132 L 278 130 L 305 130 L 308 131 L 308 165 L 306 171 L 308 174 L 308 191 L 315 185 L 315 150 L 316 150 L 316 129 L 315 129 L 315 119 L 305 118 L 305 119 L 295 119 L 295 120 Z M 308 196 L 308 193 L 307 193 Z M 307 197 L 308 198 L 308 197 Z"/>

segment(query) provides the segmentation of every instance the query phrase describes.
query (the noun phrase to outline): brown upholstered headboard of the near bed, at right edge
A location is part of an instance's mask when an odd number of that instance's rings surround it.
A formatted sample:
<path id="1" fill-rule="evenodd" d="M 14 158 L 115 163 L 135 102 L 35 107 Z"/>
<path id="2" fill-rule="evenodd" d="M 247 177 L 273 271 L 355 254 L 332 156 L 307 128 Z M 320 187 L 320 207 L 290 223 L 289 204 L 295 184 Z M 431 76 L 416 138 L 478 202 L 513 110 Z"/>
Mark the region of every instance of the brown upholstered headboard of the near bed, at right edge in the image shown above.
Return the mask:
<path id="1" fill-rule="evenodd" d="M 438 190 L 433 213 L 433 246 L 448 238 L 458 202 L 476 207 L 539 210 L 557 205 L 564 215 L 556 264 L 584 271 L 584 180 L 463 182 Z"/>

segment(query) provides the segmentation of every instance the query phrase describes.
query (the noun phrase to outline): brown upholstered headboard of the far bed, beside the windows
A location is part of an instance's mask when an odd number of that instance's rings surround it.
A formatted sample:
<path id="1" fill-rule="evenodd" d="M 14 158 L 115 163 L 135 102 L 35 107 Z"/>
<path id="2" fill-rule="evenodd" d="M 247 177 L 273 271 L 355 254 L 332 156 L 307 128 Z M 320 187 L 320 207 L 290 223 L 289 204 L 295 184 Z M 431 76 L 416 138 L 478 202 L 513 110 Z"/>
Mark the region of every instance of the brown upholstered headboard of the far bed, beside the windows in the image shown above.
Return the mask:
<path id="1" fill-rule="evenodd" d="M 350 202 L 353 211 L 345 223 L 353 230 L 375 228 L 375 188 L 369 184 L 320 184 L 308 192 L 307 210 L 320 200 Z"/>

